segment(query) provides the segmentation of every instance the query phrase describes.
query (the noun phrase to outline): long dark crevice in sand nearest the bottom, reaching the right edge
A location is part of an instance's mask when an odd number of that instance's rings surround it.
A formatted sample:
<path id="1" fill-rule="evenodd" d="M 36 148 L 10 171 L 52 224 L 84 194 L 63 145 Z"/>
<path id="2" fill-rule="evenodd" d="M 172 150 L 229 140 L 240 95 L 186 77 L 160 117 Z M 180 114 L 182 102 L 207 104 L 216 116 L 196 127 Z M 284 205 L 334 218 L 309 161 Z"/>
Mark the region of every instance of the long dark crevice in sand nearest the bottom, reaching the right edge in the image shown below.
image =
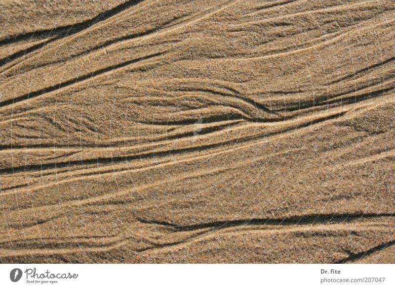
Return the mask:
<path id="1" fill-rule="evenodd" d="M 395 212 L 394 212 L 395 213 Z M 224 220 L 213 221 L 201 224 L 177 225 L 165 221 L 149 221 L 142 218 L 136 218 L 142 223 L 157 224 L 169 227 L 175 231 L 194 231 L 205 228 L 222 229 L 235 226 L 248 225 L 308 225 L 308 224 L 334 224 L 357 221 L 366 218 L 392 217 L 394 213 L 348 213 L 348 214 L 309 214 L 303 216 L 293 216 L 283 219 L 264 218 L 264 219 L 242 219 L 242 220 Z"/>

